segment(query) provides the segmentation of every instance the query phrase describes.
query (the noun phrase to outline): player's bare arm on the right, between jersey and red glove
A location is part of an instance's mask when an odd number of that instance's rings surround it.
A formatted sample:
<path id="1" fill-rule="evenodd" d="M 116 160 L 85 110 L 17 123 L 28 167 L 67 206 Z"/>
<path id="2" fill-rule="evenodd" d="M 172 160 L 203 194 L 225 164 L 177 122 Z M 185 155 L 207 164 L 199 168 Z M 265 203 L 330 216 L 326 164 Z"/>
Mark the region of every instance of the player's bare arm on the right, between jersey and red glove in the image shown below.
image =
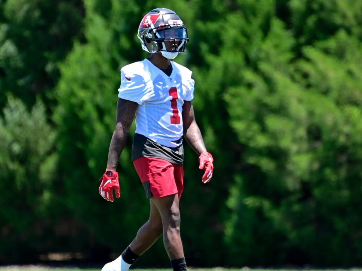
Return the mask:
<path id="1" fill-rule="evenodd" d="M 191 101 L 185 101 L 182 106 L 182 121 L 184 123 L 184 137 L 190 147 L 200 155 L 201 152 L 206 151 L 202 135 L 195 121 L 194 107 Z"/>

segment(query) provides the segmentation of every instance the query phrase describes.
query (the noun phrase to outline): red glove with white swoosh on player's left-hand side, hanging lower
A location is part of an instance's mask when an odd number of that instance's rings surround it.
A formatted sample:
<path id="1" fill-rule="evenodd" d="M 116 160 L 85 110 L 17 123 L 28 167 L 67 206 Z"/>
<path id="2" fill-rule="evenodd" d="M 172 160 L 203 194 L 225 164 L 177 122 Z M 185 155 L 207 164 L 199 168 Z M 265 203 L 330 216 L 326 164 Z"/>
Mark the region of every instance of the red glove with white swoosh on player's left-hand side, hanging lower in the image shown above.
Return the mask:
<path id="1" fill-rule="evenodd" d="M 118 173 L 113 170 L 107 170 L 99 179 L 101 185 L 99 186 L 99 194 L 107 201 L 114 201 L 113 190 L 117 198 L 121 197 L 119 193 Z"/>

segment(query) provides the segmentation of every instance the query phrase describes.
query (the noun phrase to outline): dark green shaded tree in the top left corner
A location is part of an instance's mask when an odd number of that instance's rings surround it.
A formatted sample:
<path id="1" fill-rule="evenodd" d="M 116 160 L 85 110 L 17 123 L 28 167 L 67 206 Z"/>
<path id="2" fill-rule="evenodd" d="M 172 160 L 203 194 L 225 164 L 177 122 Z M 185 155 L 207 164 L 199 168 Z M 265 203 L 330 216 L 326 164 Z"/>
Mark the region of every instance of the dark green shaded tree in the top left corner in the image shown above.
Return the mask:
<path id="1" fill-rule="evenodd" d="M 0 13 L 0 108 L 7 93 L 29 108 L 38 94 L 51 107 L 58 62 L 82 36 L 82 1 L 6 0 Z"/>

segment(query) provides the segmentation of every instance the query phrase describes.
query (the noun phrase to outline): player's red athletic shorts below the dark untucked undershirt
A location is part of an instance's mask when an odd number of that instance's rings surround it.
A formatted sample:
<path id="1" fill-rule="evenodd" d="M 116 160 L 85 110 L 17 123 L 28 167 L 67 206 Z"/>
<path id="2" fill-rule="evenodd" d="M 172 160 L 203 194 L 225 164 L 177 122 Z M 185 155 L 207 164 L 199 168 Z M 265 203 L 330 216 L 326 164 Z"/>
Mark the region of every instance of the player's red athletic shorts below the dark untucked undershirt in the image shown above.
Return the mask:
<path id="1" fill-rule="evenodd" d="M 184 168 L 164 159 L 141 157 L 133 161 L 148 198 L 161 198 L 184 190 Z"/>

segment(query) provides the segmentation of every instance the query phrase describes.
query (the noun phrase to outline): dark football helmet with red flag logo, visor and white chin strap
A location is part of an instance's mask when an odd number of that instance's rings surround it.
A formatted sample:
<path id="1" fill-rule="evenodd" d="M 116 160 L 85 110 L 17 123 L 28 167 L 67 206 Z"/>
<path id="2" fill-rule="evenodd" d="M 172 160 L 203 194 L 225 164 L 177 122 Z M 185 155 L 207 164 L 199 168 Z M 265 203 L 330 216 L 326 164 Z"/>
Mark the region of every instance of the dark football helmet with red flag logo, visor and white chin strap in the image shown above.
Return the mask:
<path id="1" fill-rule="evenodd" d="M 147 13 L 138 28 L 142 49 L 149 53 L 161 52 L 174 59 L 185 51 L 189 41 L 187 28 L 180 17 L 170 9 L 158 8 Z"/>

